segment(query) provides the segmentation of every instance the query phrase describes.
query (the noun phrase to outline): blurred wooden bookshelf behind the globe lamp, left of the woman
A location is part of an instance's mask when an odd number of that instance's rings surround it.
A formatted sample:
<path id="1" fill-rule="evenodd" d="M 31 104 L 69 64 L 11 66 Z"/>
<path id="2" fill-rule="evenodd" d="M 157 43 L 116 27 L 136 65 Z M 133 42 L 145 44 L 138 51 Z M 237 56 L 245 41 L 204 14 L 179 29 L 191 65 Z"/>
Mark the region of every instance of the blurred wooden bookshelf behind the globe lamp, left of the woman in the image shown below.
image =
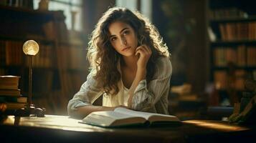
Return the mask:
<path id="1" fill-rule="evenodd" d="M 63 11 L 38 11 L 0 5 L 0 75 L 20 76 L 19 89 L 28 96 L 29 64 L 22 51 L 33 39 L 32 102 L 47 114 L 66 114 L 67 102 L 87 75 L 86 49 L 75 31 L 68 31 Z"/>

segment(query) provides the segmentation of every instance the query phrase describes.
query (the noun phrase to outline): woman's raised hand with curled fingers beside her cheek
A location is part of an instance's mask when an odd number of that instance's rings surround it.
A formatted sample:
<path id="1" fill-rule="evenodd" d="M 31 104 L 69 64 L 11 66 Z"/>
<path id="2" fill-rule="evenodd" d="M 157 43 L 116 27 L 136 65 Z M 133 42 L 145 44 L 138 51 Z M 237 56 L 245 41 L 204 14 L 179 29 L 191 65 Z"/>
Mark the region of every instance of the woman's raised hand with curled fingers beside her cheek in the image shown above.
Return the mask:
<path id="1" fill-rule="evenodd" d="M 152 54 L 151 49 L 145 44 L 137 47 L 135 55 L 136 56 L 138 55 L 138 61 L 137 61 L 138 68 L 146 69 L 148 59 L 150 58 L 151 54 Z"/>

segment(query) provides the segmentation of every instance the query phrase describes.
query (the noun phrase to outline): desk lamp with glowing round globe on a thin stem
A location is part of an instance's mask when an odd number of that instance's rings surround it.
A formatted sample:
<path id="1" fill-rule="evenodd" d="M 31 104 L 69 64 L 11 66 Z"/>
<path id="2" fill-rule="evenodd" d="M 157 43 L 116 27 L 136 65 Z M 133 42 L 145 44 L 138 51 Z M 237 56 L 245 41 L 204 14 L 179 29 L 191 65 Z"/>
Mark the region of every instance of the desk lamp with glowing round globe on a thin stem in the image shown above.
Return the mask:
<path id="1" fill-rule="evenodd" d="M 23 52 L 29 56 L 29 99 L 25 108 L 16 110 L 15 115 L 18 117 L 28 117 L 31 114 L 37 117 L 44 117 L 45 109 L 36 108 L 32 104 L 32 56 L 35 56 L 39 51 L 39 45 L 34 40 L 28 40 L 23 45 Z"/>

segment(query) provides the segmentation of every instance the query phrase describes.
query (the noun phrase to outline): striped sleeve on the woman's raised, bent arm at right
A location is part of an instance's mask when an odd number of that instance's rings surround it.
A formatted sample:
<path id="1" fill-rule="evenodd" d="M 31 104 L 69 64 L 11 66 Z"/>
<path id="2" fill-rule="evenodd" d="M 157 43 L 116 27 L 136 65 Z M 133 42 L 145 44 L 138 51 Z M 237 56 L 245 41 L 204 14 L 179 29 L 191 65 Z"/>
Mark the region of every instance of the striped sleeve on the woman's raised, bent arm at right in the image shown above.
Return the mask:
<path id="1" fill-rule="evenodd" d="M 133 93 L 132 108 L 146 111 L 153 107 L 163 97 L 163 94 L 169 94 L 171 73 L 172 66 L 169 58 L 159 58 L 151 82 L 147 85 L 144 79 L 136 87 Z"/>

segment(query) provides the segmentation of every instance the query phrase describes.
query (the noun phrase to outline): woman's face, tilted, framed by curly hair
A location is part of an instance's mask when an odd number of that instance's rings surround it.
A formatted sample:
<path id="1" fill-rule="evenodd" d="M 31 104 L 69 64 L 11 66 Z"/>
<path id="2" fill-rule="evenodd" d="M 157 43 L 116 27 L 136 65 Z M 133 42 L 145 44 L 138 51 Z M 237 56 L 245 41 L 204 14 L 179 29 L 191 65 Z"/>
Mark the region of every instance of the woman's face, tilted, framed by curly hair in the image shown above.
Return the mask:
<path id="1" fill-rule="evenodd" d="M 110 32 L 110 43 L 115 51 L 123 56 L 134 56 L 138 46 L 136 32 L 129 24 L 115 21 L 108 27 Z"/>

